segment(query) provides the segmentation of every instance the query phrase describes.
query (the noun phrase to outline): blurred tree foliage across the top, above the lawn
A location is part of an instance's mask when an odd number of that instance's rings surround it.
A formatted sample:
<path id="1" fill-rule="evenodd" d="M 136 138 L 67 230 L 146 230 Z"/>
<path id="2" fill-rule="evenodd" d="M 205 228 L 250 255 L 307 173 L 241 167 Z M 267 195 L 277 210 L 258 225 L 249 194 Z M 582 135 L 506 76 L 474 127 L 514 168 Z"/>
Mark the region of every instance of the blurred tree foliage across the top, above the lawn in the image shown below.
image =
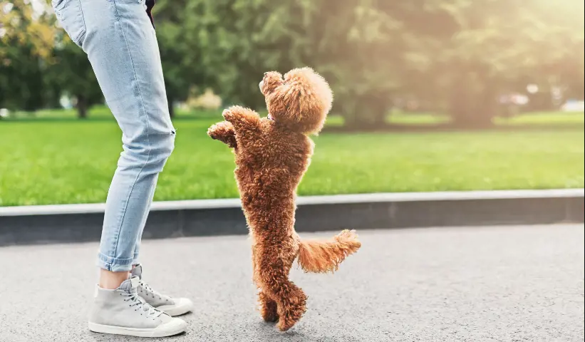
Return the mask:
<path id="1" fill-rule="evenodd" d="M 0 56 L 67 61 L 44 82 L 98 98 L 83 53 L 54 46 L 50 12 L 9 4 Z M 582 1 L 159 0 L 155 24 L 170 104 L 213 88 L 227 104 L 263 108 L 262 74 L 301 66 L 326 77 L 333 112 L 353 126 L 383 124 L 405 99 L 468 126 L 489 124 L 502 114 L 499 95 L 529 83 L 543 103 L 554 89 L 584 93 Z"/>

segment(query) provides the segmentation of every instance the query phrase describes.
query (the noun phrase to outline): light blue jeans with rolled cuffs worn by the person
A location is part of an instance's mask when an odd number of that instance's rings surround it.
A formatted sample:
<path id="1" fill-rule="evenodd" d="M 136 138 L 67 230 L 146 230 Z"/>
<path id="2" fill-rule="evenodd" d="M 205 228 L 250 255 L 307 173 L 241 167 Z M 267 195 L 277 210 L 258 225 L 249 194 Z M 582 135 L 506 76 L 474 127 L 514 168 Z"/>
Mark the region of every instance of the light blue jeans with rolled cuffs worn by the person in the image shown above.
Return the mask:
<path id="1" fill-rule="evenodd" d="M 155 30 L 145 0 L 53 0 L 52 5 L 68 36 L 87 53 L 123 133 L 98 266 L 129 271 L 138 263 L 158 174 L 175 146 Z"/>

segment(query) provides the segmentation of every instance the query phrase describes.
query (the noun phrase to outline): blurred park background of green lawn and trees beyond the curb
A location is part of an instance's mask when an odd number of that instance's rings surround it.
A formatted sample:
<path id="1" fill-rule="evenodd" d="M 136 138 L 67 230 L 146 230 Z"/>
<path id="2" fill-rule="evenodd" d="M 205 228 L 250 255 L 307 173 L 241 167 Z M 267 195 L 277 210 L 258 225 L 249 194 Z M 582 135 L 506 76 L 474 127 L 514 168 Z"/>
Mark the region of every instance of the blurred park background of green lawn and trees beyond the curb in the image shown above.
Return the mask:
<path id="1" fill-rule="evenodd" d="M 145 14 L 146 15 L 146 14 Z M 333 110 L 301 195 L 584 187 L 584 3 L 157 0 L 174 155 L 157 200 L 237 197 L 205 135 L 311 66 Z M 0 2 L 0 206 L 103 202 L 120 130 L 49 1 Z"/>

